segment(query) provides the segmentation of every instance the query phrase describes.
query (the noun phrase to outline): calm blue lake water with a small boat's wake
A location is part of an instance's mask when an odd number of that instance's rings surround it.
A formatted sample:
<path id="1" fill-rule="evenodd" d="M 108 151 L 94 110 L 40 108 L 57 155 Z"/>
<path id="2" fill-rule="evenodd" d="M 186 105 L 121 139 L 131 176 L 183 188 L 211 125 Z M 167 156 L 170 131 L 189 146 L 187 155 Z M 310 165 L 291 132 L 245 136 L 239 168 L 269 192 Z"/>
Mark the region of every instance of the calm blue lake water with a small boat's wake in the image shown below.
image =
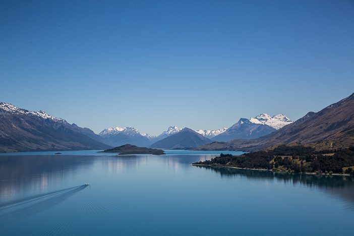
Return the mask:
<path id="1" fill-rule="evenodd" d="M 191 165 L 220 152 L 53 153 L 0 155 L 0 235 L 354 234 L 347 176 Z"/>

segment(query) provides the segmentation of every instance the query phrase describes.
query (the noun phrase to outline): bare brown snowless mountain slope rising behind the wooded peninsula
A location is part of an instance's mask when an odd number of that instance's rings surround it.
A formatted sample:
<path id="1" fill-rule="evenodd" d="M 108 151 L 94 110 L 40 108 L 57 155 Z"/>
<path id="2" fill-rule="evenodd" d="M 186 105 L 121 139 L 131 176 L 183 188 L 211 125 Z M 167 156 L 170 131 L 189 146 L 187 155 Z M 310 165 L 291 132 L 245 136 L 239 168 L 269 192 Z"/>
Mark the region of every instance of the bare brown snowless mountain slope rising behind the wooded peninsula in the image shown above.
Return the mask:
<path id="1" fill-rule="evenodd" d="M 310 111 L 296 122 L 266 136 L 215 142 L 196 149 L 256 151 L 279 144 L 305 144 L 320 150 L 354 145 L 354 93 L 318 112 Z"/>

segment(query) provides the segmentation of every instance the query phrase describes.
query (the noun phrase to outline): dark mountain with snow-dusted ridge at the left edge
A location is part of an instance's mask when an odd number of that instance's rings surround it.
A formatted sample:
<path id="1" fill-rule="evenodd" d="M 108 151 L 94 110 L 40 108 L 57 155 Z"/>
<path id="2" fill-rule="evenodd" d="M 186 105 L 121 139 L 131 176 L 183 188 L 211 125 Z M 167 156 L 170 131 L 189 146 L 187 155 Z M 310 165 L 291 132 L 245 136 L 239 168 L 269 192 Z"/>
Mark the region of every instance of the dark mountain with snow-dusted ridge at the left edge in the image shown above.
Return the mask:
<path id="1" fill-rule="evenodd" d="M 88 128 L 0 102 L 0 152 L 106 149 Z"/>

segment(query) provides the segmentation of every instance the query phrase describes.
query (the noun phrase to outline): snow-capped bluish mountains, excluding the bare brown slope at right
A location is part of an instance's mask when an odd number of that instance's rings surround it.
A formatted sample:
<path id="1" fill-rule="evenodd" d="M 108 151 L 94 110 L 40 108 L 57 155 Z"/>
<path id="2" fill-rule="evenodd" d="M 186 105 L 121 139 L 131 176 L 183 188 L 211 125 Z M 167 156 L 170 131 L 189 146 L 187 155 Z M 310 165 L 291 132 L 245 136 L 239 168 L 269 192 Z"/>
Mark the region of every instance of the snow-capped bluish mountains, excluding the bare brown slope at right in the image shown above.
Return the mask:
<path id="1" fill-rule="evenodd" d="M 125 144 L 141 147 L 190 148 L 212 141 L 260 137 L 288 123 L 291 121 L 284 115 L 270 116 L 263 113 L 255 118 L 251 117 L 250 120 L 241 119 L 228 129 L 193 131 L 171 126 L 160 135 L 152 136 L 140 133 L 133 127 L 111 127 L 97 135 L 88 128 L 69 124 L 66 120 L 44 111 L 29 111 L 10 103 L 0 102 L 0 152 L 106 149 Z M 181 135 L 174 136 L 183 130 Z M 173 137 L 169 138 L 170 136 Z M 162 141 L 166 138 L 169 139 Z M 181 143 L 171 140 L 180 140 Z"/>

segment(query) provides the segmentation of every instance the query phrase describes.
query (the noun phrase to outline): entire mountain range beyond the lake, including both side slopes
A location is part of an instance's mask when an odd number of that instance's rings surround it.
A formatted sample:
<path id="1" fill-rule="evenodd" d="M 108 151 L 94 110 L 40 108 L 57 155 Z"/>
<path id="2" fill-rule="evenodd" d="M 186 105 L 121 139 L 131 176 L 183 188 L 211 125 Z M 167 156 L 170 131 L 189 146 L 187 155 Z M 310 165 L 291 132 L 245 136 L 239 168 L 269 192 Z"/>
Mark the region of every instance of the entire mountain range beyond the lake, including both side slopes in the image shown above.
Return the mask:
<path id="1" fill-rule="evenodd" d="M 182 132 L 183 131 L 183 132 Z M 182 132 L 182 133 L 181 133 Z M 132 127 L 107 128 L 95 134 L 44 111 L 29 111 L 0 102 L 0 151 L 107 149 L 132 144 L 198 150 L 262 150 L 278 144 L 308 144 L 318 149 L 354 145 L 354 94 L 296 122 L 285 115 L 262 113 L 219 130 L 169 127 L 158 136 Z"/>

